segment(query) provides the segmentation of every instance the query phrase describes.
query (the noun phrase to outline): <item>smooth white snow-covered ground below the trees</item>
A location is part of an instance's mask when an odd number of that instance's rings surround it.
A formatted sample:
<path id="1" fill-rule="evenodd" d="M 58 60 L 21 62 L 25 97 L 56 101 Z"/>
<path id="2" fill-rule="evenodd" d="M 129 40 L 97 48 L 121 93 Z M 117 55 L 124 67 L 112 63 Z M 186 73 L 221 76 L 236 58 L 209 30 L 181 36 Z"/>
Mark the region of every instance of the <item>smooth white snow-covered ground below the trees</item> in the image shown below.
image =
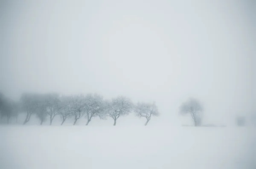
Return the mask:
<path id="1" fill-rule="evenodd" d="M 0 169 L 256 169 L 256 128 L 0 126 Z"/>

